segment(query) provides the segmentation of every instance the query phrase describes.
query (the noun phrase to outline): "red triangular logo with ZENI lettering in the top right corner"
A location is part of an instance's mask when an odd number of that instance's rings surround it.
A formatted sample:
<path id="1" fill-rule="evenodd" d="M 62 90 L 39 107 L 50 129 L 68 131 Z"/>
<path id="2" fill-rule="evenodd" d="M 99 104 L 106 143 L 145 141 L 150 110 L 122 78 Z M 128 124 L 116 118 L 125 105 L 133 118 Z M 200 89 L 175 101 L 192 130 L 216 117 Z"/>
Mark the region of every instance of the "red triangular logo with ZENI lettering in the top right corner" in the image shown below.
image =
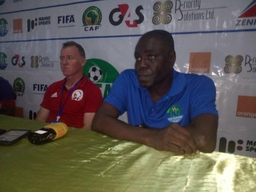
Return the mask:
<path id="1" fill-rule="evenodd" d="M 253 0 L 245 7 L 236 20 L 235 26 L 255 26 L 256 25 L 256 0 Z"/>

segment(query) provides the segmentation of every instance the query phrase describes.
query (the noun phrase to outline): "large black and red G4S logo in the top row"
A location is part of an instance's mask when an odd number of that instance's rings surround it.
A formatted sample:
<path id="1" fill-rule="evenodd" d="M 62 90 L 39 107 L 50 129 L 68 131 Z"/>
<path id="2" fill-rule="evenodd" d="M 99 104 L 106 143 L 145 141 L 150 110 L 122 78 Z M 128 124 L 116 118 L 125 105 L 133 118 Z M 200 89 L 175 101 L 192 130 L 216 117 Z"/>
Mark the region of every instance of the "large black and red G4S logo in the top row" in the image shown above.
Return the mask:
<path id="1" fill-rule="evenodd" d="M 121 5 L 118 5 L 118 8 L 115 8 L 113 9 L 110 14 L 109 14 L 109 21 L 112 25 L 114 26 L 118 26 L 122 23 L 122 21 L 124 20 L 125 18 L 125 15 L 127 13 L 129 9 L 129 5 L 127 4 L 121 4 Z M 143 7 L 142 5 L 139 5 L 136 9 L 135 9 L 135 13 L 138 15 L 139 19 L 137 20 L 133 20 L 132 23 L 131 23 L 131 20 L 125 20 L 125 24 L 127 27 L 138 27 L 138 24 L 142 23 L 143 20 L 144 20 L 144 16 L 143 14 L 140 12 L 141 10 L 143 10 Z M 115 13 L 118 13 L 120 12 L 121 14 L 118 15 L 118 19 L 117 20 L 114 20 L 113 19 L 113 16 Z M 128 13 L 127 15 L 128 18 L 131 17 L 131 12 Z"/>

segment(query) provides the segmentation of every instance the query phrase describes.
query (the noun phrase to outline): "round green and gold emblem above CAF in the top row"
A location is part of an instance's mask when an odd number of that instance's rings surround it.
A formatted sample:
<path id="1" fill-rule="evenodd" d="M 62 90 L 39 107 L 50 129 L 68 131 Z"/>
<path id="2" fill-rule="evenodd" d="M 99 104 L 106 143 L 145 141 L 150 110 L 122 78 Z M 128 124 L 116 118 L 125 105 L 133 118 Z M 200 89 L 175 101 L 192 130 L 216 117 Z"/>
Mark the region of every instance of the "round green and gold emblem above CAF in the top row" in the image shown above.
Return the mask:
<path id="1" fill-rule="evenodd" d="M 83 14 L 84 26 L 100 25 L 102 14 L 97 6 L 88 7 Z"/>

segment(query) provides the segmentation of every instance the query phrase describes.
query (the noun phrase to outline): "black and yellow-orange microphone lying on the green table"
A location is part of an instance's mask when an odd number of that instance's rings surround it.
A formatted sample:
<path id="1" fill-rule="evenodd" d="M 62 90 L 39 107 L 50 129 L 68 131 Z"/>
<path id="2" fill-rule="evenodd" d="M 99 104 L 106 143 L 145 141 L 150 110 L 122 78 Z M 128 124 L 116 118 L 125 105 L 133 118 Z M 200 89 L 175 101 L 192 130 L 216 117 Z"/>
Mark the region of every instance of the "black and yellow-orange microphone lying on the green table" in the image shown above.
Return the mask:
<path id="1" fill-rule="evenodd" d="M 31 132 L 28 135 L 29 142 L 41 145 L 46 142 L 58 139 L 68 132 L 68 126 L 65 123 L 51 123 L 43 128 Z"/>

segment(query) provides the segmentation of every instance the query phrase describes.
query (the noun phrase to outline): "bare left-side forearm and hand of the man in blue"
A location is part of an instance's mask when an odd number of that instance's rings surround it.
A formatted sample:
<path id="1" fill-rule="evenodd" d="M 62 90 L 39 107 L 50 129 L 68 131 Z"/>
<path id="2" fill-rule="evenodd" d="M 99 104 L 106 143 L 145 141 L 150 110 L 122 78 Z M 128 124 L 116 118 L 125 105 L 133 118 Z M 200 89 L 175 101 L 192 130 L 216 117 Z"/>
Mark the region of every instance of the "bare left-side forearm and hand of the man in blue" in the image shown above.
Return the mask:
<path id="1" fill-rule="evenodd" d="M 97 111 L 92 130 L 119 140 L 141 143 L 157 150 L 169 150 L 176 154 L 196 153 L 193 138 L 187 136 L 185 128 L 166 127 L 165 129 L 145 129 L 131 126 L 118 118 L 120 112 L 106 102 Z"/>

